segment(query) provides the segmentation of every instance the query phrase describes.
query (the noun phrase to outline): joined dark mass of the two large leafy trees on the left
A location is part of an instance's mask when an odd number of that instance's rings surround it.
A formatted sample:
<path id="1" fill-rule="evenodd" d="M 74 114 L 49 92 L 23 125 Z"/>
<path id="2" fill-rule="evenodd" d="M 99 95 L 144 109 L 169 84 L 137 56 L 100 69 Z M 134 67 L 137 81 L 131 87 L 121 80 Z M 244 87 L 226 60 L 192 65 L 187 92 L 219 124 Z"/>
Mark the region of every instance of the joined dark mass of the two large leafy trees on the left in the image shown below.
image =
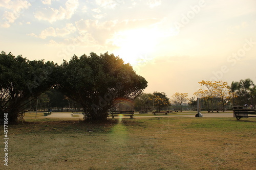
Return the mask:
<path id="1" fill-rule="evenodd" d="M 58 65 L 2 52 L 0 120 L 8 113 L 10 124 L 23 122 L 24 113 L 37 99 L 40 109 L 71 108 L 76 102 L 85 119 L 105 120 L 117 100 L 134 100 L 146 86 L 130 64 L 113 54 L 73 56 Z"/>

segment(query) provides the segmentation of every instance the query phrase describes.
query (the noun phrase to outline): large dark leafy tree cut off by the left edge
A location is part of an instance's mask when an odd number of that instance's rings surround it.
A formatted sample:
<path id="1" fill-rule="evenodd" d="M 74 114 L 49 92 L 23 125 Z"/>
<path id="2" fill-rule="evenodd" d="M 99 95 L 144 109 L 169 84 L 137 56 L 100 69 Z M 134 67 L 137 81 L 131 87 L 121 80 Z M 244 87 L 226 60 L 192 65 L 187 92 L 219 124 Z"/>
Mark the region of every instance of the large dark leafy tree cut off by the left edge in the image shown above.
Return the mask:
<path id="1" fill-rule="evenodd" d="M 9 124 L 23 121 L 26 104 L 54 84 L 56 65 L 44 60 L 29 61 L 11 53 L 0 54 L 0 119 L 8 113 Z"/>

